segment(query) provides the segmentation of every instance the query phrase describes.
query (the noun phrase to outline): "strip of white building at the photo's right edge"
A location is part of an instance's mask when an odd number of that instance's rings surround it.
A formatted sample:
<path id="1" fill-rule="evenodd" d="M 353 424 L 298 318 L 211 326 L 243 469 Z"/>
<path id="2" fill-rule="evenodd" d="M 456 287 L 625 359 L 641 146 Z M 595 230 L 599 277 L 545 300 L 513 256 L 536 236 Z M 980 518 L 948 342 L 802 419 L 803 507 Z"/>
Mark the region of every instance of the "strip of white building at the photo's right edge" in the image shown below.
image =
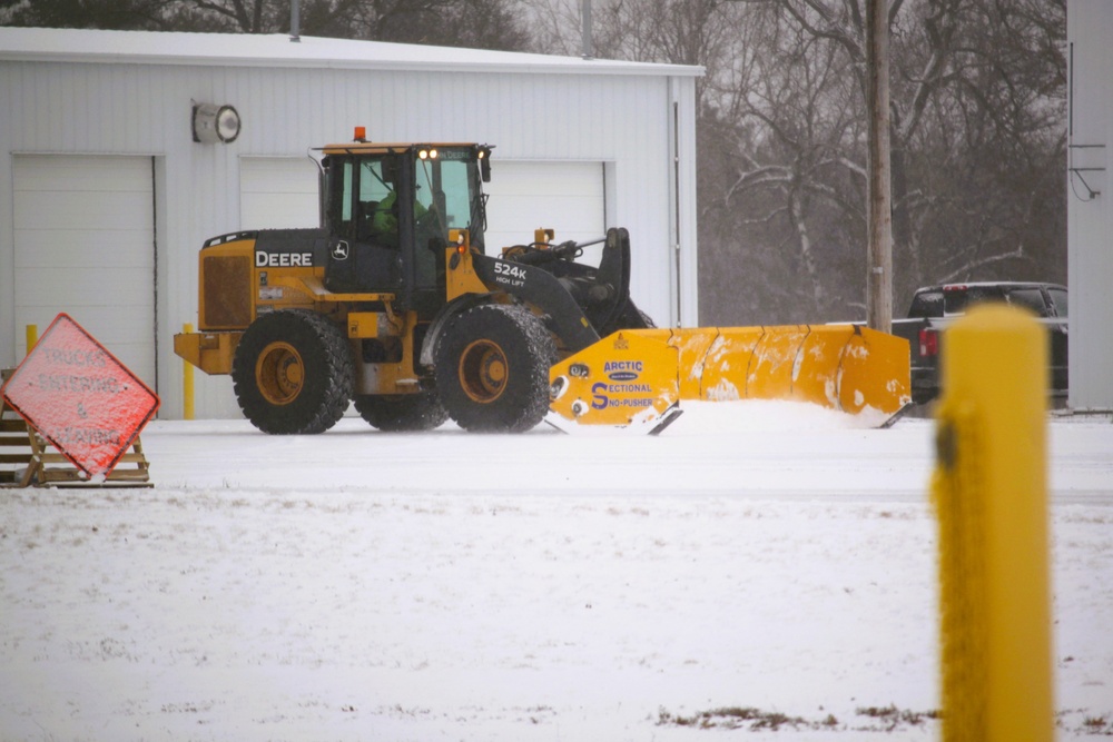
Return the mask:
<path id="1" fill-rule="evenodd" d="M 1113 409 L 1113 3 L 1066 10 L 1070 405 Z"/>

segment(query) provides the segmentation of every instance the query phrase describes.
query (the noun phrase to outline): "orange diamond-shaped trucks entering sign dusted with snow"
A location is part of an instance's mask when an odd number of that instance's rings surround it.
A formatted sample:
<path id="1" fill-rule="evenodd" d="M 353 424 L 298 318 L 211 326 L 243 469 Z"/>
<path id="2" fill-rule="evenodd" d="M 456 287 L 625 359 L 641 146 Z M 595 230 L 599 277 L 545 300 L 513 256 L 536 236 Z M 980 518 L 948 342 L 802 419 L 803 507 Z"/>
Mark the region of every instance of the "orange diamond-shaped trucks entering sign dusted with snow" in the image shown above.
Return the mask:
<path id="1" fill-rule="evenodd" d="M 0 393 L 91 478 L 107 476 L 158 409 L 158 395 L 60 314 Z"/>

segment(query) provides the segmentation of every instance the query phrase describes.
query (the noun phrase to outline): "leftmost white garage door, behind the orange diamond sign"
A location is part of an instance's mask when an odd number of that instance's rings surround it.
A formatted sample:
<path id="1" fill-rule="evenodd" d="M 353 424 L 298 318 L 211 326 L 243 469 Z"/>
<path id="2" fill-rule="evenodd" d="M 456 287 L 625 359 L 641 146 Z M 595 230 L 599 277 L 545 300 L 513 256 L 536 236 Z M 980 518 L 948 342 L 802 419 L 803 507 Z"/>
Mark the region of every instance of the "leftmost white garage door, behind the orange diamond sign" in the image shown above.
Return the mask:
<path id="1" fill-rule="evenodd" d="M 17 352 L 65 311 L 156 385 L 150 157 L 13 159 Z"/>

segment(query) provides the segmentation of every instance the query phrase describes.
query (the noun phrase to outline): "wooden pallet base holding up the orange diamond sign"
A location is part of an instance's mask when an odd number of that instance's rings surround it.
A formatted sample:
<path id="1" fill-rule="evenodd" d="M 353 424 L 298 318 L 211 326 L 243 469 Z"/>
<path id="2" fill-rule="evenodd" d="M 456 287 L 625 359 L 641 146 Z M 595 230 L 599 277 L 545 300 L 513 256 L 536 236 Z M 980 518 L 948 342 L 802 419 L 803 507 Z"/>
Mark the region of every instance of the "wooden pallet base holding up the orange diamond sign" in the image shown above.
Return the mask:
<path id="1" fill-rule="evenodd" d="M 13 369 L 3 369 L 3 380 Z M 0 487 L 152 487 L 139 436 L 116 468 L 92 482 L 0 398 Z"/>

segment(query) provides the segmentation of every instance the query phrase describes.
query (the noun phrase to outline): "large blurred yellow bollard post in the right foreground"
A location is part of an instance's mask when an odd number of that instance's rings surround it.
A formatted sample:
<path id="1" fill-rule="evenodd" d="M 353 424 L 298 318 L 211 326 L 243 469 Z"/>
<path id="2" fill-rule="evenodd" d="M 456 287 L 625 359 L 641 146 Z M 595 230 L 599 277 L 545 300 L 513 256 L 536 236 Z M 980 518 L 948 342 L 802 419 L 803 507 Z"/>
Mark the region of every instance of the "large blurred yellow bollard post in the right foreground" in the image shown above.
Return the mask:
<path id="1" fill-rule="evenodd" d="M 947 329 L 942 363 L 943 739 L 1050 742 L 1045 330 L 978 307 Z"/>

